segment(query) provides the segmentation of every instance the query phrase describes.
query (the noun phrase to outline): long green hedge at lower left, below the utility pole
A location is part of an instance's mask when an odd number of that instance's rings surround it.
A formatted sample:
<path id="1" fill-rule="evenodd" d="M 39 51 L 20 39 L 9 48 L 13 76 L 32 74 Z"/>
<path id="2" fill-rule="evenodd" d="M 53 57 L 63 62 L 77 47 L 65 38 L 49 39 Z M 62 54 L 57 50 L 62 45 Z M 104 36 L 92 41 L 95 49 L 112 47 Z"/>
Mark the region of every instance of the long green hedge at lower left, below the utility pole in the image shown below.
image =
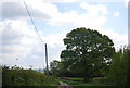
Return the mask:
<path id="1" fill-rule="evenodd" d="M 50 86 L 57 85 L 54 77 L 47 76 L 32 70 L 23 70 L 20 67 L 3 68 L 3 86 Z"/>

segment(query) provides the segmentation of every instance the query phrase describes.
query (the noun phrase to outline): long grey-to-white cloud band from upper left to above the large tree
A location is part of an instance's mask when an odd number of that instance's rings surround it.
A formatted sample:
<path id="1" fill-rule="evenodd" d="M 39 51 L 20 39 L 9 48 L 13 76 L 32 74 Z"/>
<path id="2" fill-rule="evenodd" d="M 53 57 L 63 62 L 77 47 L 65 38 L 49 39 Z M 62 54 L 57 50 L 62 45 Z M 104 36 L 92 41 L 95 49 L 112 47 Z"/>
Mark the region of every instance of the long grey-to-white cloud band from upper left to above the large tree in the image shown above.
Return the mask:
<path id="1" fill-rule="evenodd" d="M 4 18 L 27 18 L 25 5 L 23 3 L 4 3 L 3 4 L 3 17 Z M 88 3 L 79 3 L 80 9 L 84 10 L 83 13 L 78 11 L 68 11 L 61 13 L 58 8 L 53 3 L 44 3 L 39 1 L 26 1 L 31 16 L 36 20 L 46 21 L 53 26 L 74 25 L 74 26 L 87 26 L 90 28 L 99 28 L 104 25 L 107 17 L 107 7 L 103 4 L 91 5 Z M 37 3 L 37 4 L 36 4 Z M 21 10 L 21 11 L 20 11 Z"/>

